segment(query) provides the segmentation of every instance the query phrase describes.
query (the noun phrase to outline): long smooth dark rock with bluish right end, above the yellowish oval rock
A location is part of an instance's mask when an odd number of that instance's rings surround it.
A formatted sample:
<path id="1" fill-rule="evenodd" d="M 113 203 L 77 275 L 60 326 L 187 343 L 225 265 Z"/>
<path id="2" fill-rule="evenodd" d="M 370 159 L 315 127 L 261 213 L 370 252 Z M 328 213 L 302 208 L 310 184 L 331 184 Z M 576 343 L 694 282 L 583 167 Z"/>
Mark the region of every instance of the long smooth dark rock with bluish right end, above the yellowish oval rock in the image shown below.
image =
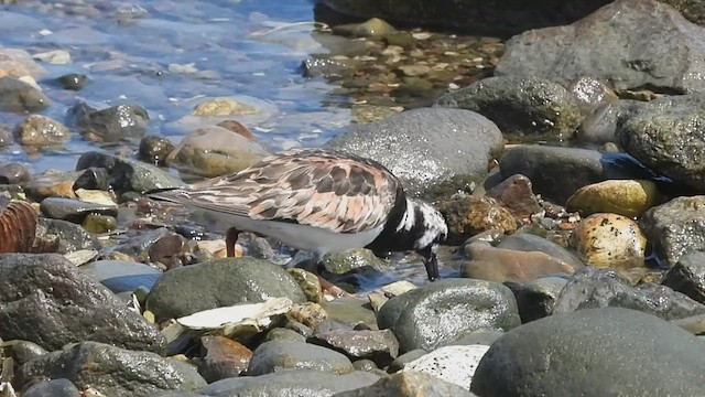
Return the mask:
<path id="1" fill-rule="evenodd" d="M 502 178 L 521 173 L 536 194 L 563 204 L 578 189 L 608 179 L 658 178 L 639 161 L 622 153 L 527 144 L 513 148 L 499 162 Z"/>

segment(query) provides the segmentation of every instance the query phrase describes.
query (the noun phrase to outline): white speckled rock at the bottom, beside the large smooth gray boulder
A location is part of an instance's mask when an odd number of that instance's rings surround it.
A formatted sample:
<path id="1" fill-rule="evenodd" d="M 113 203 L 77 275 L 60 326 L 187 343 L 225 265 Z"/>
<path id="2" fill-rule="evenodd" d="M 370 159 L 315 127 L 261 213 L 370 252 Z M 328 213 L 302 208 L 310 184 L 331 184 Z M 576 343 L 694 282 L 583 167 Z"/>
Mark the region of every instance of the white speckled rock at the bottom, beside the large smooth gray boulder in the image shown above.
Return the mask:
<path id="1" fill-rule="evenodd" d="M 486 345 L 440 347 L 406 364 L 402 371 L 426 373 L 469 390 L 475 369 L 488 350 Z"/>

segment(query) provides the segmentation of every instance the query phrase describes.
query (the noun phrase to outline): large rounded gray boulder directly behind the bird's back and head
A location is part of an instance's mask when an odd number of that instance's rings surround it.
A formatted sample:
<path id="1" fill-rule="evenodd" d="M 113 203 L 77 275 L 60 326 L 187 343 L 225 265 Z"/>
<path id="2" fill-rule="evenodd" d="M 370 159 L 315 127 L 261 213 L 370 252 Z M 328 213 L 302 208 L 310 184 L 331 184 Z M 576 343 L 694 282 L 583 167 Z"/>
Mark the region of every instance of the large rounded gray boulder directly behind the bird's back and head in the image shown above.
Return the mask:
<path id="1" fill-rule="evenodd" d="M 412 194 L 440 196 L 485 178 L 503 143 L 497 126 L 481 115 L 422 108 L 356 125 L 325 147 L 379 161 Z"/>

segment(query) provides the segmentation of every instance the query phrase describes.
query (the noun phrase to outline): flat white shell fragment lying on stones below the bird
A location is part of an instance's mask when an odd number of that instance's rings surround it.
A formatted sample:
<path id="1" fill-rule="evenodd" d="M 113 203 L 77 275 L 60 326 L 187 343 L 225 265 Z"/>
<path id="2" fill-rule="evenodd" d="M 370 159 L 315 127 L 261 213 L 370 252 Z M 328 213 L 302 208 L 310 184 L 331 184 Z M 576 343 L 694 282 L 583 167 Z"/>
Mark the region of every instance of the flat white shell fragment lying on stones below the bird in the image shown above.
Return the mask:
<path id="1" fill-rule="evenodd" d="M 273 318 L 288 313 L 293 304 L 289 298 L 275 298 L 262 303 L 204 310 L 176 321 L 192 331 L 215 331 L 224 335 L 250 334 L 267 330 Z"/>

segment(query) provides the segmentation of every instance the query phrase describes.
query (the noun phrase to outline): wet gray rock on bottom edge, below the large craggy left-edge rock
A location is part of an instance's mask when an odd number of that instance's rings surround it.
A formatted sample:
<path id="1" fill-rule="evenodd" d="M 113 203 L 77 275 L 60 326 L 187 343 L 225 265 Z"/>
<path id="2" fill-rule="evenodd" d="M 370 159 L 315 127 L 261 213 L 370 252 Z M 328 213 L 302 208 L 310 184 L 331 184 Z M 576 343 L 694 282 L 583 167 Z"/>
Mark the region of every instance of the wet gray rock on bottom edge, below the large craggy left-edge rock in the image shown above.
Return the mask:
<path id="1" fill-rule="evenodd" d="M 192 391 L 206 385 L 193 366 L 149 352 L 82 342 L 29 362 L 20 368 L 25 382 L 35 376 L 66 378 L 78 388 L 106 396 L 152 396 L 161 390 Z"/>

